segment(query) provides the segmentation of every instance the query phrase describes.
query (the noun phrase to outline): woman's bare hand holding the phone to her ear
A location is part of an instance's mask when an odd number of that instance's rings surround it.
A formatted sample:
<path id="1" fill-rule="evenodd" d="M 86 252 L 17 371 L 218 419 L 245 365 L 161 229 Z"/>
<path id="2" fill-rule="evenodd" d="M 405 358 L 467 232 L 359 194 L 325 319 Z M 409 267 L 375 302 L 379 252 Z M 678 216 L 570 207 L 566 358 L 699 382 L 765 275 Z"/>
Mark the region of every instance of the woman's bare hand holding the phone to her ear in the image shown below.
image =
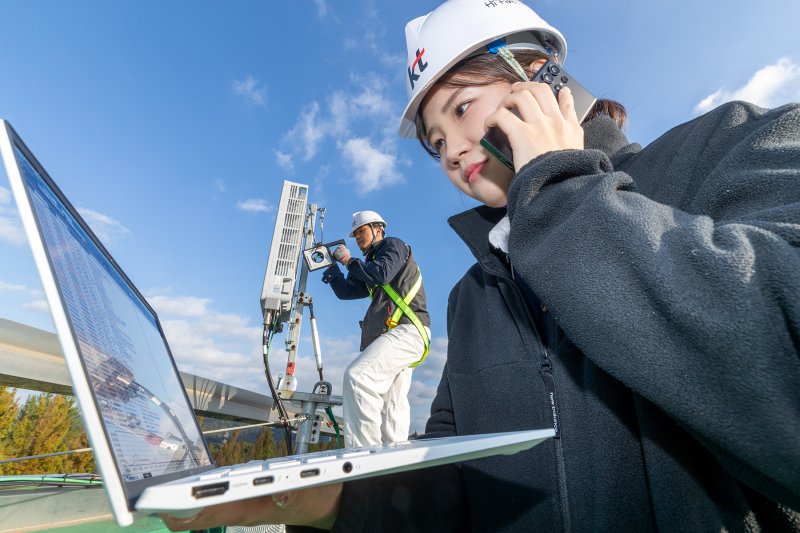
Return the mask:
<path id="1" fill-rule="evenodd" d="M 497 111 L 486 117 L 485 126 L 499 128 L 508 137 L 515 172 L 544 153 L 583 149 L 583 128 L 568 87 L 556 100 L 547 84 L 517 82 Z"/>

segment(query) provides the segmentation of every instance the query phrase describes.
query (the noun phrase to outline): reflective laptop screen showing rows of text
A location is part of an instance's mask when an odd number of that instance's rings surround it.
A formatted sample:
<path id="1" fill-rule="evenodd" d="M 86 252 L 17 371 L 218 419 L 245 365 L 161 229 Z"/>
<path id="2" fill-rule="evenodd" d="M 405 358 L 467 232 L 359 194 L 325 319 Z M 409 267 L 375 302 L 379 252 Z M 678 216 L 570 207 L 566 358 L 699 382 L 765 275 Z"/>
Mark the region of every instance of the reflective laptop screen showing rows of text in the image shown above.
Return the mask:
<path id="1" fill-rule="evenodd" d="M 14 155 L 120 479 L 211 465 L 155 313 L 49 177 Z"/>

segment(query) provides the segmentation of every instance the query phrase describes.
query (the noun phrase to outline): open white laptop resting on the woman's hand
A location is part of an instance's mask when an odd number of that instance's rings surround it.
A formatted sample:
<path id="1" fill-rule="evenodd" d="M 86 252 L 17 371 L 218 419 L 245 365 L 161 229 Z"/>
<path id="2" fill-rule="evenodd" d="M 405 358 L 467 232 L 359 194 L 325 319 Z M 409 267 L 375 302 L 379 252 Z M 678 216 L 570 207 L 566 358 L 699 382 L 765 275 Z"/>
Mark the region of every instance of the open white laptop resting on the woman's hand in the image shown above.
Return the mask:
<path id="1" fill-rule="evenodd" d="M 8 122 L 0 153 L 120 526 L 137 514 L 513 454 L 552 429 L 448 437 L 216 468 L 153 309 Z"/>

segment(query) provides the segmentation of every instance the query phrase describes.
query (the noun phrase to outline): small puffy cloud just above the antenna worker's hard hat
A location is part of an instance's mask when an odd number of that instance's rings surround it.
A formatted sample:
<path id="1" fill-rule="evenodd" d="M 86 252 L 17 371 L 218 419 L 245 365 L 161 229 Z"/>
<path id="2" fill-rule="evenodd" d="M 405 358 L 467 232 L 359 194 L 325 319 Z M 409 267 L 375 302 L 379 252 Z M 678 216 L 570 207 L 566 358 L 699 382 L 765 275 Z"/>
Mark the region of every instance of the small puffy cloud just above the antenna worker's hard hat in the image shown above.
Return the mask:
<path id="1" fill-rule="evenodd" d="M 366 194 L 403 181 L 397 157 L 372 146 L 369 139 L 352 138 L 340 143 L 342 157 L 350 164 L 358 194 Z"/>

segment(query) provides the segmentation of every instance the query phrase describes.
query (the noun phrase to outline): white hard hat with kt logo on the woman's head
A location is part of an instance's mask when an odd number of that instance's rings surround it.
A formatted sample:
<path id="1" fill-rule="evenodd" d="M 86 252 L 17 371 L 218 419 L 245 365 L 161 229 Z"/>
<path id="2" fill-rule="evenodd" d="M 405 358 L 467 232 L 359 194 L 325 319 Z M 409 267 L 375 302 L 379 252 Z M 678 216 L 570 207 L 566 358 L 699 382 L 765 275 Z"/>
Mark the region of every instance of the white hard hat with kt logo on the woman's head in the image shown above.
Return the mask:
<path id="1" fill-rule="evenodd" d="M 536 48 L 563 64 L 567 41 L 518 0 L 447 0 L 406 24 L 406 96 L 400 136 L 416 136 L 419 104 L 450 67 L 497 39 L 509 48 Z"/>

